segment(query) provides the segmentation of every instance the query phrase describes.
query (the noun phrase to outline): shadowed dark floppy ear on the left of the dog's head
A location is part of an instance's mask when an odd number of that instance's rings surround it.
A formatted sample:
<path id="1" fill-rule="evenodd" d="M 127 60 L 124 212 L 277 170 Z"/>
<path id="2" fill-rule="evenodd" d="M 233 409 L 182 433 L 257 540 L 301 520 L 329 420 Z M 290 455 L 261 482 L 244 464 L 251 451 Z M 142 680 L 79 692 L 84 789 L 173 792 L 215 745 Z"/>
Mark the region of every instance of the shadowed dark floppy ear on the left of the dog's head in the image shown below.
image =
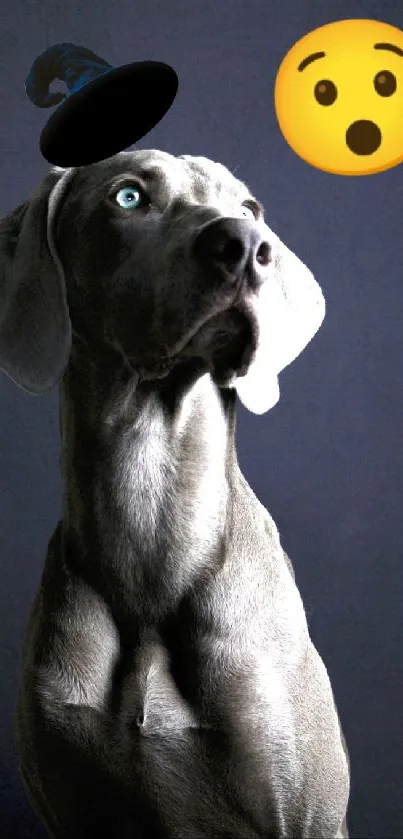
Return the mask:
<path id="1" fill-rule="evenodd" d="M 59 381 L 69 357 L 71 327 L 52 231 L 71 176 L 72 170 L 53 169 L 30 201 L 0 221 L 0 369 L 33 394 Z"/>

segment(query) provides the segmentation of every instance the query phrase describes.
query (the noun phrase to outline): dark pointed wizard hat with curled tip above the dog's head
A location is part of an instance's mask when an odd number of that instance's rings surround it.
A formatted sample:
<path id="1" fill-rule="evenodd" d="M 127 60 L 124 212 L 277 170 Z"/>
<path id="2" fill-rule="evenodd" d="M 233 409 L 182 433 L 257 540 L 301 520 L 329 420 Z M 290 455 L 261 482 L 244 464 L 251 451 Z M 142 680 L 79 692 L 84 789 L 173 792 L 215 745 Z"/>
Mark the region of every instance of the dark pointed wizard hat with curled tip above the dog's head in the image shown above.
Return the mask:
<path id="1" fill-rule="evenodd" d="M 55 79 L 64 81 L 69 93 L 50 92 Z M 25 89 L 39 108 L 63 102 L 41 133 L 46 160 L 55 166 L 87 166 L 148 134 L 171 107 L 178 77 L 159 61 L 111 67 L 85 47 L 55 44 L 35 59 Z"/>

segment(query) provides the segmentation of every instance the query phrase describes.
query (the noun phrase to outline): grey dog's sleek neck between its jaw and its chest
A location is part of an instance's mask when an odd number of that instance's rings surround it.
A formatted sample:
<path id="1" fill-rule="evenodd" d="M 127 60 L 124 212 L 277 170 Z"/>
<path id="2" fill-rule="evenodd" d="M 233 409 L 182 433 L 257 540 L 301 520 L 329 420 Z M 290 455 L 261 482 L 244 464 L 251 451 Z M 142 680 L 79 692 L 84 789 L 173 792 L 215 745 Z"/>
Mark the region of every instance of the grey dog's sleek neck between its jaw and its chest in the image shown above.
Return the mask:
<path id="1" fill-rule="evenodd" d="M 234 391 L 190 363 L 141 383 L 72 362 L 61 432 L 71 555 L 122 620 L 161 619 L 220 562 Z"/>

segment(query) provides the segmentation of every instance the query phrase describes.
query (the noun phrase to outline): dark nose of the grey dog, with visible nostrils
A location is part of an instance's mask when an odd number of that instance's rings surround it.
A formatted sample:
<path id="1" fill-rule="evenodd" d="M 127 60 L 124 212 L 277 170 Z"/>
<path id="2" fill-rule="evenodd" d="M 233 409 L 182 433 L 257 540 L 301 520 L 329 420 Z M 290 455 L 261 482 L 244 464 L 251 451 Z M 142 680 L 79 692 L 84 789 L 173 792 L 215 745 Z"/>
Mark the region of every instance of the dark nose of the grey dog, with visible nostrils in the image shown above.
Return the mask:
<path id="1" fill-rule="evenodd" d="M 264 282 L 271 248 L 250 219 L 219 218 L 208 222 L 193 242 L 193 256 L 234 285 L 243 277 L 256 288 Z"/>

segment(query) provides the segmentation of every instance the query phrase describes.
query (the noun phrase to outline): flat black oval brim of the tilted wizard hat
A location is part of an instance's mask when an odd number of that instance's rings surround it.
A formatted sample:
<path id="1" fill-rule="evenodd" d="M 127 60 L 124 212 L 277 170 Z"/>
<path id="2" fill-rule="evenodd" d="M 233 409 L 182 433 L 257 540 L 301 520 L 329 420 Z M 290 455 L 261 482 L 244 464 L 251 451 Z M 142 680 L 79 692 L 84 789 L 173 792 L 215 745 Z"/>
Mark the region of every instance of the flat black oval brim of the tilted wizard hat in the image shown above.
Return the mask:
<path id="1" fill-rule="evenodd" d="M 178 77 L 168 64 L 141 61 L 103 73 L 69 95 L 46 123 L 40 150 L 54 166 L 88 166 L 148 134 L 171 107 Z"/>

